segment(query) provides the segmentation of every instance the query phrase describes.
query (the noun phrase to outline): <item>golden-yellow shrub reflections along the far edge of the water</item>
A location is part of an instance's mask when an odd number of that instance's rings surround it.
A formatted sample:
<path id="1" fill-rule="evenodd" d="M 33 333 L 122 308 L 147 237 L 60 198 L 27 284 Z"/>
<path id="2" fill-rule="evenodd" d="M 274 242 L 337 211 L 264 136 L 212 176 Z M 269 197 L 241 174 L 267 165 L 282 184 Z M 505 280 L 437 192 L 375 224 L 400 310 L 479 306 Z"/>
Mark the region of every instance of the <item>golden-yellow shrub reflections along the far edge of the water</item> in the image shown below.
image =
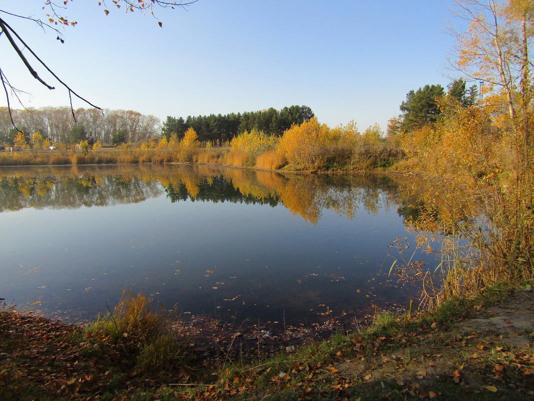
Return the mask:
<path id="1" fill-rule="evenodd" d="M 187 194 L 194 199 L 199 196 L 206 184 L 210 185 L 216 181 L 216 177 L 224 176 L 242 195 L 263 202 L 279 201 L 293 215 L 299 215 L 314 225 L 318 223 L 324 209 L 353 218 L 359 205 L 363 204 L 367 211 L 376 213 L 383 193 L 380 189 L 370 188 L 371 181 L 365 178 L 331 177 L 327 179 L 325 176 L 317 175 L 286 176 L 274 172 L 210 165 L 180 166 L 179 168 L 113 166 L 98 169 L 76 166 L 69 169 L 42 168 L 40 173 L 38 169 L 21 169 L 20 171 L 22 173 L 17 173 L 20 175 L 19 178 L 11 175 L 2 180 L 5 180 L 7 185 L 17 185 L 20 193 L 25 197 L 32 194 L 32 188 L 35 188 L 37 195 L 44 196 L 54 188 L 54 183 L 61 185 L 63 181 L 61 178 L 65 178 L 85 188 L 98 190 L 100 200 L 105 200 L 106 190 L 111 190 L 112 196 L 117 197 L 116 188 L 113 186 L 117 184 L 130 186 L 133 179 L 142 180 L 145 183 L 159 182 L 164 188 L 172 187 L 176 191 L 180 187 L 185 187 Z M 58 176 L 59 179 L 55 177 L 50 179 L 51 175 Z"/>

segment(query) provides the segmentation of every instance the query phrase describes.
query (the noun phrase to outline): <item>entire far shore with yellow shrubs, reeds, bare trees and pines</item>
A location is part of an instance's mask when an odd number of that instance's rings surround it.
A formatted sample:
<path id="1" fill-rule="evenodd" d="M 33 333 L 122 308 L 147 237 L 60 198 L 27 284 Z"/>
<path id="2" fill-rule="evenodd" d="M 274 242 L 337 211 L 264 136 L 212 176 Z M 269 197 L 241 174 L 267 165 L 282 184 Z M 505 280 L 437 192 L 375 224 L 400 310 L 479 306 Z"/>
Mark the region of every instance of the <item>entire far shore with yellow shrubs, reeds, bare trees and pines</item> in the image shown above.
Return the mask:
<path id="1" fill-rule="evenodd" d="M 163 122 L 132 110 L 78 109 L 75 121 L 69 107 L 11 112 L 3 107 L 0 142 L 14 152 L 1 155 L 0 165 L 211 163 L 307 172 L 412 171 L 413 133 L 443 120 L 443 99 L 474 106 L 477 86 L 468 88 L 460 78 L 447 91 L 439 84 L 410 90 L 387 133 L 377 124 L 360 130 L 354 121 L 331 128 L 310 107 L 298 105 L 168 116 Z M 184 142 L 187 132 L 194 140 Z"/>

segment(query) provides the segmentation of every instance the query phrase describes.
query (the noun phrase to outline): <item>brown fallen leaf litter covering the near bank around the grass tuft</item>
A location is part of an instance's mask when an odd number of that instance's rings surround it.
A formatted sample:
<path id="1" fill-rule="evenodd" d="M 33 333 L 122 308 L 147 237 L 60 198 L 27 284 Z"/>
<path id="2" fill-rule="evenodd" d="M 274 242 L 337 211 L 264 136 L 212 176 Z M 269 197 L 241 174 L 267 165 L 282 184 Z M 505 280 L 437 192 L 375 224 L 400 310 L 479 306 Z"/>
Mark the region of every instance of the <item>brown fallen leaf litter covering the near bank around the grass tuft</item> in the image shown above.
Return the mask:
<path id="1" fill-rule="evenodd" d="M 95 346 L 91 338 L 73 340 L 75 326 L 1 312 L 0 395 L 19 399 L 17 391 L 30 385 L 49 395 L 43 399 L 106 394 L 119 401 L 144 389 L 146 399 L 154 400 L 166 391 L 173 399 L 192 400 L 527 400 L 534 396 L 533 298 L 518 292 L 497 307 L 475 307 L 469 319 L 365 338 L 353 334 L 341 345 L 328 340 L 323 344 L 332 344 L 331 351 L 308 345 L 328 336 L 326 327 L 321 335 L 318 327 L 265 333 L 253 325 L 193 317 L 176 337 L 189 347 L 188 365 L 158 373 L 135 366 L 131 356 L 105 341 Z M 280 350 L 288 354 L 285 362 L 261 363 Z M 252 367 L 237 369 L 240 362 Z M 225 374 L 210 376 L 223 365 L 229 366 Z M 268 380 L 260 385 L 261 377 Z"/>

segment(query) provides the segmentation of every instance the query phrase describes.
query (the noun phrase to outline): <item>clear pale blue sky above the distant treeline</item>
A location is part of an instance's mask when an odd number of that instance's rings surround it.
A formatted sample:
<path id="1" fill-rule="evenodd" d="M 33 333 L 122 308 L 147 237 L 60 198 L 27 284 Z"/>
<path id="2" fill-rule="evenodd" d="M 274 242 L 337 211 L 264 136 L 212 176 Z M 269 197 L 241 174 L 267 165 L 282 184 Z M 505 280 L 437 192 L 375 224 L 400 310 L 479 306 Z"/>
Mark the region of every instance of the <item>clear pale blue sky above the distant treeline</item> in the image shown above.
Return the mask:
<path id="1" fill-rule="evenodd" d="M 0 0 L 0 9 L 45 19 L 42 3 Z M 65 29 L 65 44 L 2 17 L 94 104 L 162 120 L 298 104 L 331 127 L 355 120 L 385 130 L 410 89 L 450 82 L 444 65 L 453 38 L 444 30 L 452 0 L 199 0 L 159 10 L 158 19 L 107 3 L 107 17 L 96 0 L 69 3 L 63 14 L 78 25 Z M 29 75 L 5 35 L 0 51 L 7 78 L 31 94 L 21 97 L 27 107 L 68 105 L 48 74 L 56 90 Z"/>

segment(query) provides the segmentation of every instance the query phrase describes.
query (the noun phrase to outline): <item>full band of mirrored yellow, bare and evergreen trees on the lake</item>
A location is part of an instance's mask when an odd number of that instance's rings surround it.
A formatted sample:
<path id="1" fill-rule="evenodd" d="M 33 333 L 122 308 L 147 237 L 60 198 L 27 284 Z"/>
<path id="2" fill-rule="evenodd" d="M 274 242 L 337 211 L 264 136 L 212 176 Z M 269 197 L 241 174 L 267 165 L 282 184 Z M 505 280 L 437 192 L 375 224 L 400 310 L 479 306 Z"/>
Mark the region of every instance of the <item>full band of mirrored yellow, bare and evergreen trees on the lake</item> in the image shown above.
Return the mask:
<path id="1" fill-rule="evenodd" d="M 0 172 L 0 212 L 129 204 L 160 196 L 171 202 L 283 204 L 316 225 L 323 210 L 349 219 L 363 205 L 406 209 L 399 183 L 388 176 L 280 174 L 218 166 L 114 166 L 11 168 Z M 386 194 L 385 205 L 380 194 Z"/>

